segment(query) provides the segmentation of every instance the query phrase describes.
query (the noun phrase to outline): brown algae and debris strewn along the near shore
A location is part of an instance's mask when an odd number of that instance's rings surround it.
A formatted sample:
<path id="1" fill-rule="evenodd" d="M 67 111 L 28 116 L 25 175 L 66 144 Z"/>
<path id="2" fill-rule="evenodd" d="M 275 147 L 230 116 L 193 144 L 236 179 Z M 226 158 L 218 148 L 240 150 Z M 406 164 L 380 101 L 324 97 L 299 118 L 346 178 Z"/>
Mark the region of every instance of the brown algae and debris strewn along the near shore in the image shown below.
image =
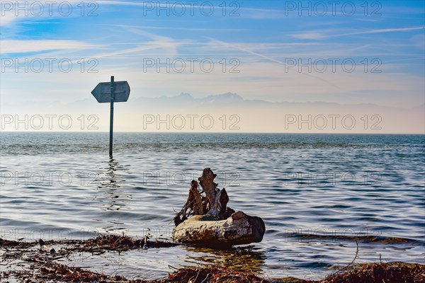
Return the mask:
<path id="1" fill-rule="evenodd" d="M 8 241 L 0 238 L 1 265 L 0 279 L 6 282 L 303 282 L 303 283 L 351 283 L 351 282 L 425 282 L 425 265 L 406 262 L 365 263 L 349 267 L 324 279 L 311 281 L 293 277 L 262 278 L 254 272 L 243 272 L 227 267 L 184 267 L 161 279 L 126 278 L 123 275 L 108 275 L 83 267 L 69 267 L 56 262 L 76 252 L 101 254 L 121 252 L 130 249 L 167 248 L 176 246 L 168 241 L 148 241 L 128 236 L 106 235 L 87 240 L 64 240 L 42 242 L 55 247 L 46 252 L 38 242 Z M 255 269 L 254 269 L 255 270 Z"/>

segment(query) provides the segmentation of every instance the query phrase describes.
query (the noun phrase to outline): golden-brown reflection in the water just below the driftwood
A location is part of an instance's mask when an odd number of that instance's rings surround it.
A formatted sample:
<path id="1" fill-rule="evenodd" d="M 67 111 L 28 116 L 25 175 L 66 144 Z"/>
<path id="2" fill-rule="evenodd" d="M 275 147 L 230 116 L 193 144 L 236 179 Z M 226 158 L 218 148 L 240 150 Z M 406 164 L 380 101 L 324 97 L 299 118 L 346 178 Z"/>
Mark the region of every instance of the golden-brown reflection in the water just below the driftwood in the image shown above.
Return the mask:
<path id="1" fill-rule="evenodd" d="M 202 267 L 218 265 L 242 272 L 263 273 L 262 266 L 266 260 L 266 253 L 256 250 L 254 246 L 231 248 L 229 250 L 215 250 L 212 248 L 188 248 L 188 250 L 201 253 L 188 255 L 187 262 L 196 262 Z"/>

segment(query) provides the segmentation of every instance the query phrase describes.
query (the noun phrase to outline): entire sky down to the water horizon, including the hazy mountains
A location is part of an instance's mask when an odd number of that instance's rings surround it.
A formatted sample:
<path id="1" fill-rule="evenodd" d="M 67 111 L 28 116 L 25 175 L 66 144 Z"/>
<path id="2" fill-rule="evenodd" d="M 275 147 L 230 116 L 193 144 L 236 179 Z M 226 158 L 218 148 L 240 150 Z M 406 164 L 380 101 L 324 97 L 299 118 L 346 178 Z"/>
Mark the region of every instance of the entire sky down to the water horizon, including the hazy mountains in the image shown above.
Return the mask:
<path id="1" fill-rule="evenodd" d="M 0 3 L 1 130 L 425 131 L 425 1 Z"/>

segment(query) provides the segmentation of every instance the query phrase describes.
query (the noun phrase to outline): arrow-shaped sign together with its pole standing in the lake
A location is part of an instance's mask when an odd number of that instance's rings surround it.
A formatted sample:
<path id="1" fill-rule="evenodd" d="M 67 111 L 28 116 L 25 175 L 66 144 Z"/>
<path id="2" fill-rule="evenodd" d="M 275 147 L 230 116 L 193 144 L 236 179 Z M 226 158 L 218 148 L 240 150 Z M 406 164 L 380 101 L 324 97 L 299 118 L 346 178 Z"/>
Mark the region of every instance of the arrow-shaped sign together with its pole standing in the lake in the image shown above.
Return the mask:
<path id="1" fill-rule="evenodd" d="M 111 103 L 111 115 L 109 118 L 109 156 L 112 157 L 113 144 L 113 103 L 126 102 L 130 96 L 130 86 L 127 81 L 115 81 L 111 76 L 111 83 L 98 83 L 91 91 L 98 103 Z"/>

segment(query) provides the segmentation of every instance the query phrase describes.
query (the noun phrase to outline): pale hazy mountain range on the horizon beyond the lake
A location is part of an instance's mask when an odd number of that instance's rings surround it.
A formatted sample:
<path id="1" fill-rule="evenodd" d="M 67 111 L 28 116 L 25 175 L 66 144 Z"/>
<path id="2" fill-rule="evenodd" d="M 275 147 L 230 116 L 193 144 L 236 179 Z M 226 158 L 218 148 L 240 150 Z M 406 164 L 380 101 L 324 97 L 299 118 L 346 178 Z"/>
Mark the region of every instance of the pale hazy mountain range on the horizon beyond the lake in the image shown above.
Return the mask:
<path id="1" fill-rule="evenodd" d="M 67 109 L 67 112 L 58 112 L 58 109 Z M 74 125 L 81 124 L 81 118 L 78 120 L 81 115 L 96 115 L 98 129 L 108 131 L 108 103 L 97 103 L 90 96 L 67 104 L 57 100 L 50 103 L 28 101 L 18 105 L 2 104 L 1 112 L 18 115 L 20 119 L 24 115 L 70 115 Z M 150 123 L 147 123 L 148 116 Z M 176 127 L 177 122 L 181 124 L 182 117 L 186 119 L 183 121 L 184 127 Z M 204 127 L 197 121 L 197 127 L 189 127 L 190 117 L 198 120 L 204 117 L 208 119 L 203 121 L 204 124 L 212 120 L 213 125 Z M 246 100 L 237 93 L 229 92 L 204 98 L 194 98 L 189 93 L 157 98 L 130 96 L 127 103 L 116 103 L 114 123 L 115 129 L 120 131 L 406 134 L 424 133 L 424 120 L 424 104 L 403 109 L 371 103 L 269 102 Z M 77 127 L 74 130 L 80 129 Z"/>

